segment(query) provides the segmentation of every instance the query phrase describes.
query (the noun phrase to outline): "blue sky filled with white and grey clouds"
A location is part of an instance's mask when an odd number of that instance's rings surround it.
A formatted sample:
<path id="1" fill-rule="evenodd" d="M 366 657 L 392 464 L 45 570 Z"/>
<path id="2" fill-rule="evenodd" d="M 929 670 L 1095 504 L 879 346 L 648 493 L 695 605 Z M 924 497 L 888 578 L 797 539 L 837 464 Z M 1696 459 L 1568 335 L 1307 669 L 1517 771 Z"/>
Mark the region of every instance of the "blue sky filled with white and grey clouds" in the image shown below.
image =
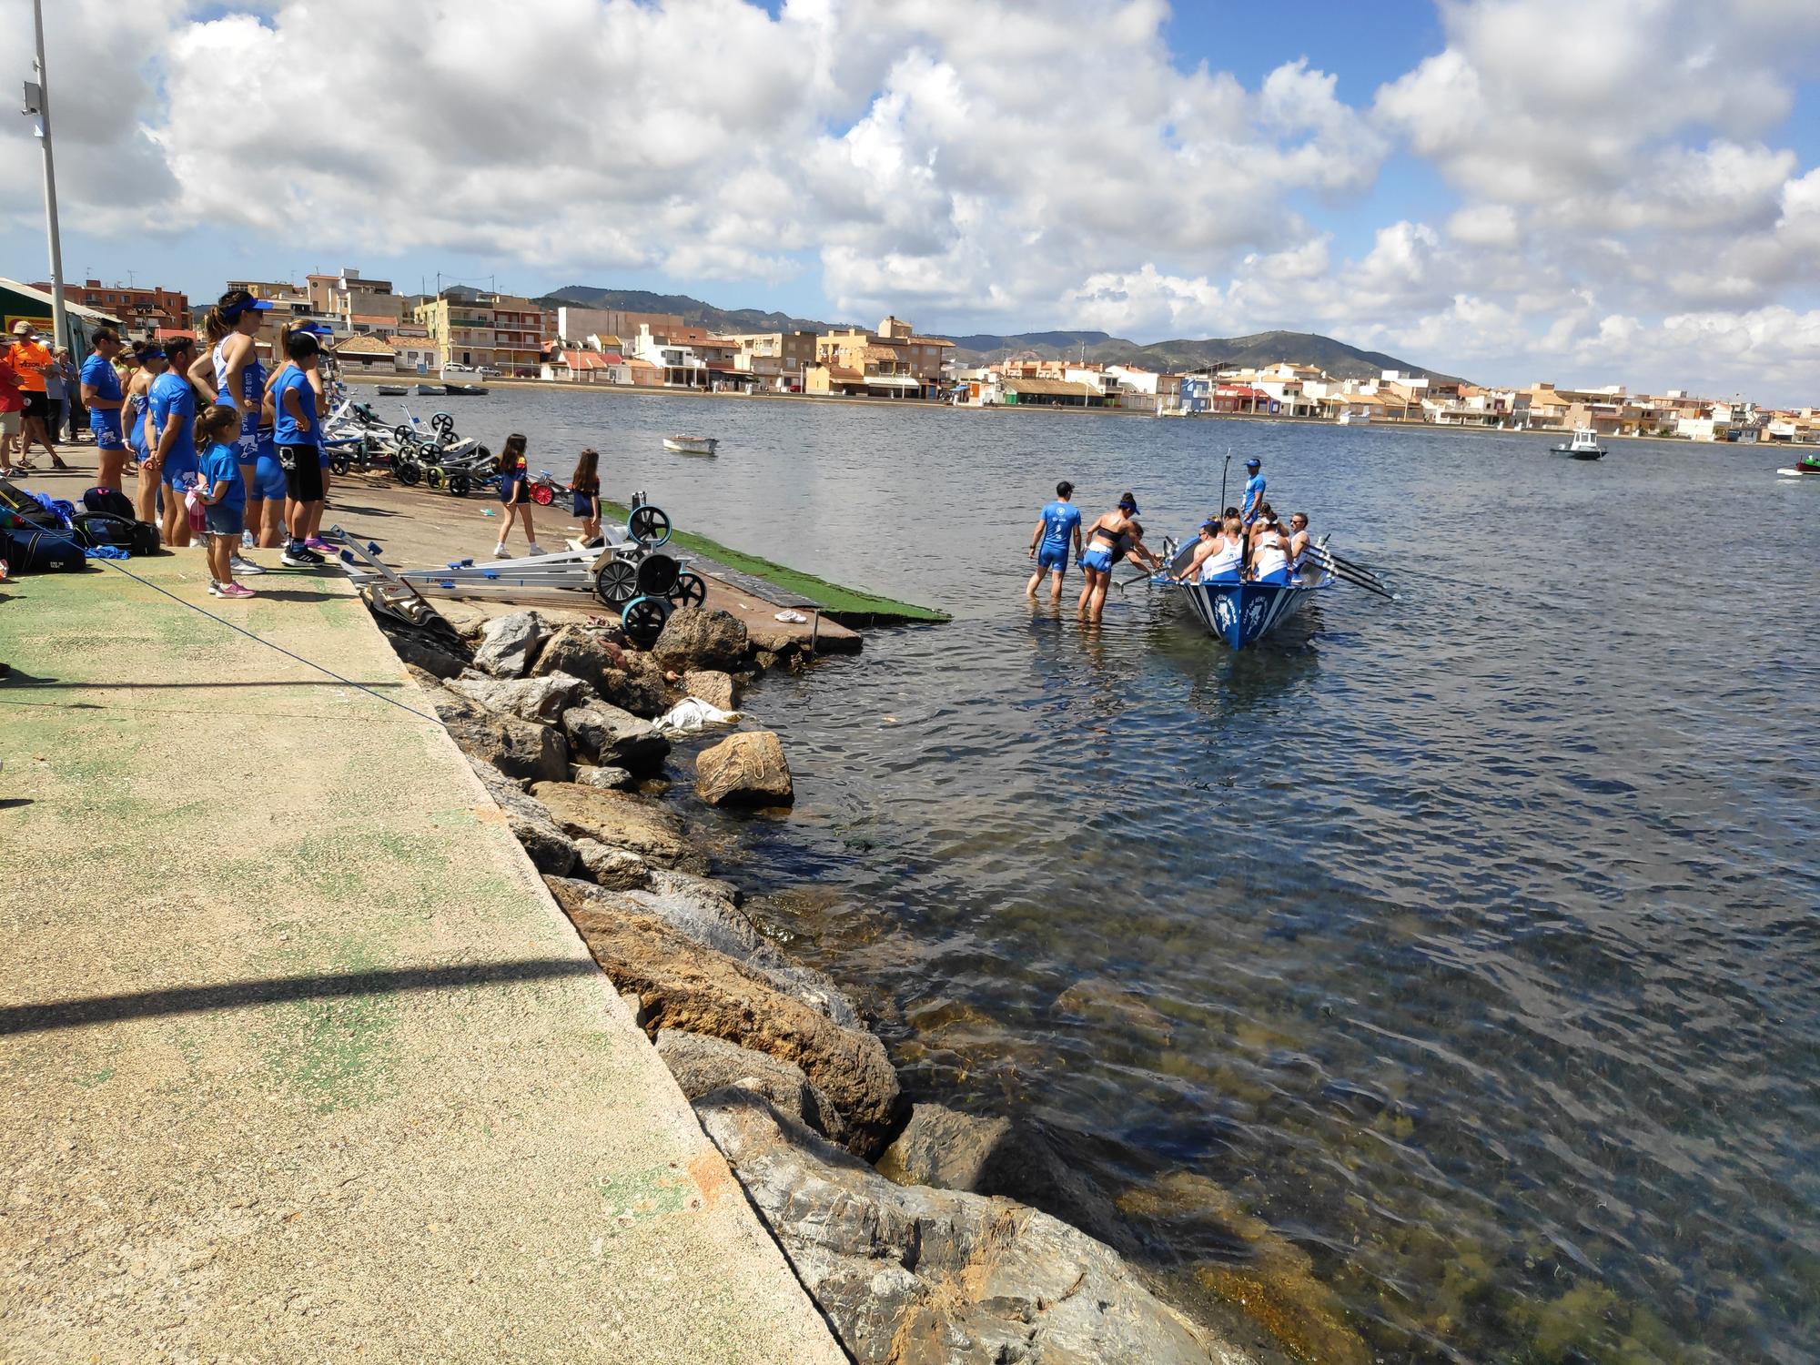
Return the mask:
<path id="1" fill-rule="evenodd" d="M 16 11 L 16 22 L 15 15 Z M 55 0 L 64 268 L 1820 404 L 1815 0 Z M 31 67 L 0 0 L 0 71 Z M 0 273 L 44 278 L 33 120 Z"/>

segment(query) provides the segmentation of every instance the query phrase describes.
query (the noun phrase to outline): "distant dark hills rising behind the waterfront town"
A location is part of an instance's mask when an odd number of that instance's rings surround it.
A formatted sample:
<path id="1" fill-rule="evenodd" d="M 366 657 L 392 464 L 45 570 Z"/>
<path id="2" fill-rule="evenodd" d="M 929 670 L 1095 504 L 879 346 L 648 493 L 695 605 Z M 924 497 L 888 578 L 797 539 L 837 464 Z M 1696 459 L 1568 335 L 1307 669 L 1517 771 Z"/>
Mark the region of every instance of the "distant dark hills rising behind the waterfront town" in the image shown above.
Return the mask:
<path id="1" fill-rule="evenodd" d="M 571 284 L 537 300 L 546 308 L 570 304 L 573 308 L 621 308 L 630 313 L 675 313 L 690 326 L 715 333 L 739 331 L 834 331 L 854 326 L 848 322 L 821 322 L 790 313 L 763 313 L 755 308 L 715 308 L 684 293 L 650 293 L 648 289 L 597 289 Z M 930 333 L 943 335 L 943 333 Z M 1400 360 L 1383 351 L 1363 351 L 1343 340 L 1316 331 L 1258 331 L 1250 337 L 1203 337 L 1199 340 L 1163 340 L 1139 344 L 1105 331 L 1021 331 L 1012 335 L 972 333 L 946 337 L 954 342 L 954 359 L 963 366 L 986 364 L 1001 359 L 1059 360 L 1085 359 L 1099 364 L 1134 364 L 1148 369 L 1181 371 L 1216 364 L 1267 366 L 1276 360 L 1296 360 L 1325 369 L 1336 379 L 1370 379 L 1383 369 L 1401 369 L 1405 375 L 1429 375 L 1434 380 L 1452 380 L 1440 369 L 1429 369 L 1412 360 Z"/>

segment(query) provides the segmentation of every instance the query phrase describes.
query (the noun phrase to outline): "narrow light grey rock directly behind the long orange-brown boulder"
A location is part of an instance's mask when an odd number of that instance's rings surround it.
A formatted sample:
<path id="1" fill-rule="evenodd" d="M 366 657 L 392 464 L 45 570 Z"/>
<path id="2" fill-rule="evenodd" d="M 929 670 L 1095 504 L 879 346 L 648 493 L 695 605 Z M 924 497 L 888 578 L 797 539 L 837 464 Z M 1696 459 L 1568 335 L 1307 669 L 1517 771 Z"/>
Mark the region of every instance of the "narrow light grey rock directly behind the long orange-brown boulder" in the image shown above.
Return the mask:
<path id="1" fill-rule="evenodd" d="M 635 885 L 615 886 L 615 881 L 630 881 L 632 877 L 615 875 L 619 864 L 608 866 L 595 850 L 602 850 L 602 846 L 592 839 L 575 841 L 582 866 L 593 872 L 593 885 L 546 877 L 551 881 L 550 890 L 557 903 L 566 912 L 588 908 L 608 915 L 650 915 L 704 948 L 726 954 L 757 972 L 772 990 L 801 1001 L 843 1028 L 864 1026 L 859 1010 L 834 981 L 812 966 L 788 961 L 775 945 L 753 928 L 752 921 L 739 910 L 737 892 L 728 883 L 652 868 L 637 859 L 644 868 L 644 877 Z"/>

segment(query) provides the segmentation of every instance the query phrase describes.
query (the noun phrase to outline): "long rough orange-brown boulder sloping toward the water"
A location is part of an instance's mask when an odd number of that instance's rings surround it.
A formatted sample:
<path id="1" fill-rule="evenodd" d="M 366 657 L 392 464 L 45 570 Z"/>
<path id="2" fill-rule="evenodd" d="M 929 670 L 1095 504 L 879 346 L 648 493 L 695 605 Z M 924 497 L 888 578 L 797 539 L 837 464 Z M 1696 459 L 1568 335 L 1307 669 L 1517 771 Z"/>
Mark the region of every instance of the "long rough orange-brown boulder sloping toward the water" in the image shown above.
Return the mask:
<path id="1" fill-rule="evenodd" d="M 701 946 L 653 915 L 568 912 L 619 990 L 637 992 L 655 1028 L 712 1034 L 794 1061 L 848 1125 L 848 1148 L 872 1156 L 897 1117 L 897 1072 L 872 1034 L 843 1028 L 759 972 Z"/>

